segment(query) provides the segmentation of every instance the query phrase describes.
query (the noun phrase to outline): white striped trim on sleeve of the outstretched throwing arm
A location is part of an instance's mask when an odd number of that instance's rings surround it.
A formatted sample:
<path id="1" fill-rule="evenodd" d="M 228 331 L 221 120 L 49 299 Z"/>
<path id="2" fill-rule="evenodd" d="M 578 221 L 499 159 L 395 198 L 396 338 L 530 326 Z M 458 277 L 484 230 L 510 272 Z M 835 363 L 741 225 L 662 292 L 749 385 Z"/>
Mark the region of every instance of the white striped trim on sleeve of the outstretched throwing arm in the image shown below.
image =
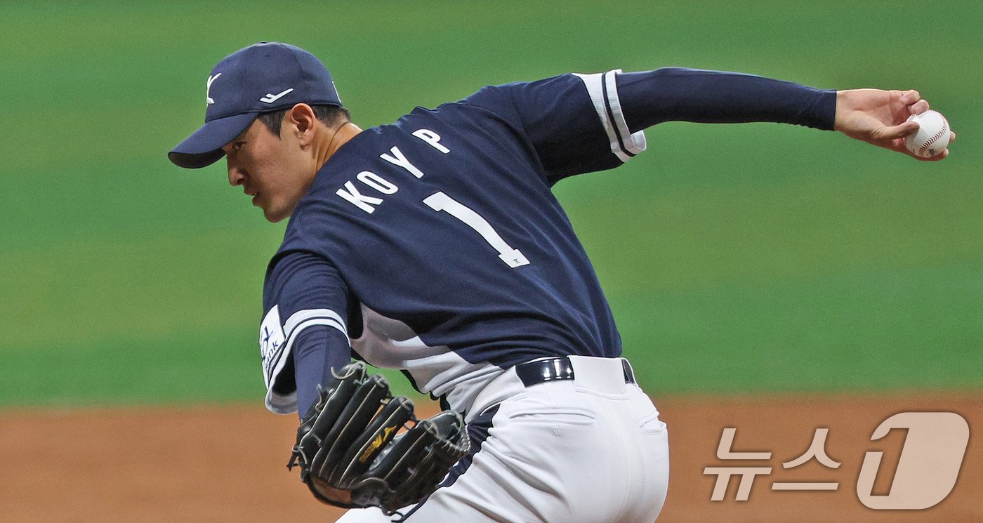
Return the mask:
<path id="1" fill-rule="evenodd" d="M 622 162 L 625 162 L 635 154 L 645 150 L 647 143 L 645 131 L 629 133 L 628 124 L 624 120 L 621 102 L 617 97 L 617 85 L 614 82 L 615 75 L 620 72 L 620 69 L 615 69 L 604 74 L 583 75 L 574 73 L 574 75 L 580 78 L 584 82 L 584 86 L 587 87 L 587 93 L 591 96 L 594 110 L 601 118 L 601 125 L 607 133 L 611 152 Z"/>

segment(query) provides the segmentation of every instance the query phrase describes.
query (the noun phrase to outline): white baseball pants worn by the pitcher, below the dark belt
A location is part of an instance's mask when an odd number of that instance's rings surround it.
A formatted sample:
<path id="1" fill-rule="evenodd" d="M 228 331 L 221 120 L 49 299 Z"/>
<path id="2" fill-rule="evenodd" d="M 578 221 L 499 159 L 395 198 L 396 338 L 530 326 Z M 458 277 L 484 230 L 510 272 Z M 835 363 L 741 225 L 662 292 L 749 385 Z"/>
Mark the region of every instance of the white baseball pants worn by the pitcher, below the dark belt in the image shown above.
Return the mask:
<path id="1" fill-rule="evenodd" d="M 669 467 L 659 411 L 641 388 L 625 382 L 620 359 L 570 359 L 572 380 L 525 387 L 514 371 L 492 380 L 486 387 L 492 390 L 479 398 L 511 395 L 470 420 L 476 429 L 487 427 L 487 438 L 453 483 L 401 515 L 362 508 L 338 521 L 654 522 Z"/>

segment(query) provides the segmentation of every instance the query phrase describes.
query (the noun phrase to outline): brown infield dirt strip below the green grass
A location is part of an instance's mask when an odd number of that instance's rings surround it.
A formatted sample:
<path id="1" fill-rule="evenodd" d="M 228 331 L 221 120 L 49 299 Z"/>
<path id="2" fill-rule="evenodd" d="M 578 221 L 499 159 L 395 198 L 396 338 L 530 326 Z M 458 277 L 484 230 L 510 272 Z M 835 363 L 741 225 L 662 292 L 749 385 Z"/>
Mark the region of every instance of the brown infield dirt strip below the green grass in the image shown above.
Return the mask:
<path id="1" fill-rule="evenodd" d="M 669 426 L 671 473 L 660 522 L 983 521 L 983 395 L 667 397 L 657 398 Z M 856 494 L 864 454 L 883 451 L 873 494 L 889 494 L 905 439 L 875 428 L 899 412 L 951 411 L 970 438 L 952 494 L 926 510 L 873 510 Z M 732 451 L 772 451 L 767 462 L 717 458 L 724 428 L 736 429 Z M 817 428 L 829 429 L 826 451 L 842 465 L 815 459 L 788 470 Z M 261 522 L 334 521 L 340 511 L 318 503 L 288 473 L 293 416 L 261 406 L 84 411 L 0 411 L 0 521 Z M 746 501 L 732 478 L 712 501 L 716 476 L 705 467 L 772 467 Z M 775 482 L 835 482 L 831 492 L 775 492 Z"/>

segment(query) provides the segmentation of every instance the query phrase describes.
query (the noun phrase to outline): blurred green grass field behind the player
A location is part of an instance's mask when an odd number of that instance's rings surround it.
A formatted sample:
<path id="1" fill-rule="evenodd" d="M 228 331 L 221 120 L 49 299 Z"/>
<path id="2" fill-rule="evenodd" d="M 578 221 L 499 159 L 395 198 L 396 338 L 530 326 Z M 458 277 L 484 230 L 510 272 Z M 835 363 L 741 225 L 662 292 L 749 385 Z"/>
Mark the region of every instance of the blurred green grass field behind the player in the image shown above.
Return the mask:
<path id="1" fill-rule="evenodd" d="M 4 2 L 0 405 L 256 399 L 262 220 L 166 151 L 226 54 L 331 69 L 363 127 L 486 84 L 662 66 L 916 87 L 942 163 L 793 126 L 669 123 L 556 193 L 653 393 L 983 384 L 983 4 Z"/>

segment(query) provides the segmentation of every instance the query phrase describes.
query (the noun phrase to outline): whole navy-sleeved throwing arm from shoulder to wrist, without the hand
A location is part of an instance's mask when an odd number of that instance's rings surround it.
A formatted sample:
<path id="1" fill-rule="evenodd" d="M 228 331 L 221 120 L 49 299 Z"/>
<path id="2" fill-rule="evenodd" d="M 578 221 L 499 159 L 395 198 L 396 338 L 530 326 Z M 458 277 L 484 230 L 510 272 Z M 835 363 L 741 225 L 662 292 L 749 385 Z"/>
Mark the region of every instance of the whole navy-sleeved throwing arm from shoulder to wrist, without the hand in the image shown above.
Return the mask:
<path id="1" fill-rule="evenodd" d="M 628 161 L 645 150 L 644 130 L 667 121 L 776 122 L 832 130 L 837 91 L 742 73 L 666 67 L 573 73 L 486 87 L 472 98 L 516 122 L 555 182 Z"/>

